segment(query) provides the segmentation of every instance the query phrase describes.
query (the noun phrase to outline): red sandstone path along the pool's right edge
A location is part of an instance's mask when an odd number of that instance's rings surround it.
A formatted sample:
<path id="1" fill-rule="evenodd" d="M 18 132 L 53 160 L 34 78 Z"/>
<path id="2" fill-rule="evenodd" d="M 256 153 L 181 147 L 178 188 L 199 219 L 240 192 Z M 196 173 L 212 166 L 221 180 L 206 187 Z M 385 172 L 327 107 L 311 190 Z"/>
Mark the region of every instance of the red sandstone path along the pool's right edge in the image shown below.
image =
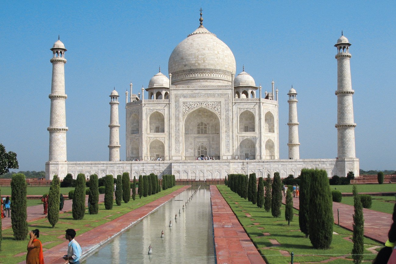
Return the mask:
<path id="1" fill-rule="evenodd" d="M 260 253 L 215 185 L 210 186 L 210 196 L 217 263 L 265 264 Z"/>

